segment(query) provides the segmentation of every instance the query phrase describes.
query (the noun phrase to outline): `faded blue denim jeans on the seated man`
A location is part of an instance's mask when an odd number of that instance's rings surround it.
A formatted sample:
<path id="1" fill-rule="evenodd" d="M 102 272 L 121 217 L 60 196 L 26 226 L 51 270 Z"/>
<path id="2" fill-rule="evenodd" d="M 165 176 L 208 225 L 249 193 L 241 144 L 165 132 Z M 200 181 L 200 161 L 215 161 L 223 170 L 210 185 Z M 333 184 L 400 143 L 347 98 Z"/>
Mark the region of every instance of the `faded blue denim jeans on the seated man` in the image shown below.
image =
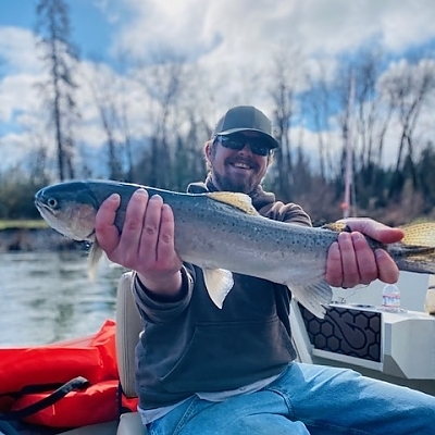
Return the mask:
<path id="1" fill-rule="evenodd" d="M 291 363 L 260 391 L 222 402 L 192 397 L 150 435 L 435 434 L 435 398 L 351 370 Z"/>

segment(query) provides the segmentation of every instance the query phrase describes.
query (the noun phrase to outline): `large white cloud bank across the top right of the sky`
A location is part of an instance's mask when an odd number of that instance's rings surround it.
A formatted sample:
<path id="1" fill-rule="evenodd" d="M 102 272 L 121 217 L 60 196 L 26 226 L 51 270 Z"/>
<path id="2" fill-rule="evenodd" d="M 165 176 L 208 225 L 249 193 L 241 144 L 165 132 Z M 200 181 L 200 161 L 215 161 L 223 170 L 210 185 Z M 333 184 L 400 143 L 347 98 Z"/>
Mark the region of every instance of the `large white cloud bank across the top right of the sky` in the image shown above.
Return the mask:
<path id="1" fill-rule="evenodd" d="M 157 49 L 208 51 L 226 59 L 260 61 L 289 42 L 307 53 L 337 54 L 375 40 L 400 51 L 435 37 L 432 0 L 123 0 L 134 21 L 125 23 L 116 48 L 147 55 Z"/>

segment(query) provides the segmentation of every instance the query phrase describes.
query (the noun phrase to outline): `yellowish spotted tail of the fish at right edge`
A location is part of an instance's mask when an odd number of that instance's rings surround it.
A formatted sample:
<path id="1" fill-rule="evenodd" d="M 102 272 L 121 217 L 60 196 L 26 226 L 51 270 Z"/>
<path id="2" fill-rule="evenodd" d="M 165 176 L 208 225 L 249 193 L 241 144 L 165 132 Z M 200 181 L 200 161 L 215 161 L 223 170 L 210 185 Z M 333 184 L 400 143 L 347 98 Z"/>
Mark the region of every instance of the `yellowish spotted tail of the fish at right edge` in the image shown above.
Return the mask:
<path id="1" fill-rule="evenodd" d="M 402 227 L 405 236 L 391 247 L 391 256 L 401 271 L 435 274 L 435 222 Z M 398 250 L 394 248 L 398 247 Z"/>

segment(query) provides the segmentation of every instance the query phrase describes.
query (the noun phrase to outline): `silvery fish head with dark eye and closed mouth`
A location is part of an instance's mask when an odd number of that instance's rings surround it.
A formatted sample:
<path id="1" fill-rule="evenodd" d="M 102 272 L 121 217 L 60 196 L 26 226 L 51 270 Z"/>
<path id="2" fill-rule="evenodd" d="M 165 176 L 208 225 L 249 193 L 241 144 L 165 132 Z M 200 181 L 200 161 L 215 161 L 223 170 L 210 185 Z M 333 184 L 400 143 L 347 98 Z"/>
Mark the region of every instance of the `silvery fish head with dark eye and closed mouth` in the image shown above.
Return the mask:
<path id="1" fill-rule="evenodd" d="M 95 240 L 98 200 L 86 182 L 66 182 L 44 187 L 35 206 L 47 223 L 74 240 Z"/>

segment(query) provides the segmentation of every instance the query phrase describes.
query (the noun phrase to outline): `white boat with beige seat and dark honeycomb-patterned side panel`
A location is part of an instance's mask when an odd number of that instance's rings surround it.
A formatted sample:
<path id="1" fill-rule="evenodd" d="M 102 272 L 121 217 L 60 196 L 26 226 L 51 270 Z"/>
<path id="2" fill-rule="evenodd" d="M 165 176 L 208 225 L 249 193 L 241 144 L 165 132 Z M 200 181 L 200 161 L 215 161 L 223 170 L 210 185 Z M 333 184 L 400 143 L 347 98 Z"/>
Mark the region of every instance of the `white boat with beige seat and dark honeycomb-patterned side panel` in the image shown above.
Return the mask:
<path id="1" fill-rule="evenodd" d="M 135 403 L 134 349 L 142 325 L 132 293 L 132 272 L 123 273 L 120 278 L 114 324 L 120 391 Z M 435 291 L 431 288 L 435 287 L 435 277 L 425 279 L 424 290 Z M 325 318 L 318 319 L 293 299 L 290 324 L 300 362 L 350 368 L 370 377 L 435 395 L 435 316 L 423 310 L 390 312 L 372 303 L 341 300 L 331 303 Z M 2 427 L 0 424 L 0 434 L 13 434 Z M 74 428 L 25 425 L 15 433 L 133 435 L 144 434 L 144 431 L 134 406 L 98 424 Z"/>

